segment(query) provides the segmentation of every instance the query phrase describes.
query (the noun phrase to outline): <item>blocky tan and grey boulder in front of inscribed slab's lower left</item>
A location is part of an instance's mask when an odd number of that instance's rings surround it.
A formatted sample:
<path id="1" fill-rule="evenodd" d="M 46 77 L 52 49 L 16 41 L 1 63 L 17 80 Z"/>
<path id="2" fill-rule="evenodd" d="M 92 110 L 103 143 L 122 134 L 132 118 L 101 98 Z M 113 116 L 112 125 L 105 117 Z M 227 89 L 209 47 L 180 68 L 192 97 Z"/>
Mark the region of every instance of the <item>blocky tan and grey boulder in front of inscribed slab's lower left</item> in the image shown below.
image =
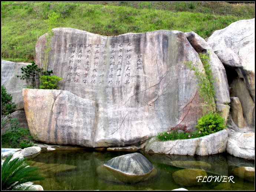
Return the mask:
<path id="1" fill-rule="evenodd" d="M 63 90 L 23 89 L 24 109 L 35 140 L 93 146 L 96 103 Z"/>

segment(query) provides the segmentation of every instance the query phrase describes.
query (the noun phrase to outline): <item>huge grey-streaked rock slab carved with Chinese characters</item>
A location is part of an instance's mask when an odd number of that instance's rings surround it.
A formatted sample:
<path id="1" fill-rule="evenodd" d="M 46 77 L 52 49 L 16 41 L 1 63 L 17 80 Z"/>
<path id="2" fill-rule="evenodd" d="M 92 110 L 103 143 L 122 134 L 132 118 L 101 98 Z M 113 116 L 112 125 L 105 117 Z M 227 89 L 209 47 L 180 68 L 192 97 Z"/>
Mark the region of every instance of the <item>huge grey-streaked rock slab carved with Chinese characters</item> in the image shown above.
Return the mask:
<path id="1" fill-rule="evenodd" d="M 184 62 L 198 62 L 200 68 L 202 64 L 183 32 L 159 30 L 115 37 L 72 28 L 53 32 L 47 70 L 63 78 L 60 89 L 97 104 L 95 137 L 88 146 L 141 144 L 179 123 L 194 129 L 203 115 L 197 79 Z M 45 42 L 46 34 L 36 44 L 40 67 Z"/>

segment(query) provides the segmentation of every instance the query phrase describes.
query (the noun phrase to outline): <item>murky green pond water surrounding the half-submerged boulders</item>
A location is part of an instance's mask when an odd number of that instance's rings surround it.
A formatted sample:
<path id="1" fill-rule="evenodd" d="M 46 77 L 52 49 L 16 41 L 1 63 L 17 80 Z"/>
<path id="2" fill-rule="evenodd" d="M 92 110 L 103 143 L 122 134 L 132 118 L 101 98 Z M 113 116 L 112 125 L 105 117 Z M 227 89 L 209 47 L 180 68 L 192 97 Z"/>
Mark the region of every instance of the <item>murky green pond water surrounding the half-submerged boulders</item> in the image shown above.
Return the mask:
<path id="1" fill-rule="evenodd" d="M 151 162 L 157 173 L 136 184 L 106 181 L 96 171 L 97 167 L 108 160 L 132 152 L 81 149 L 43 151 L 27 162 L 30 166 L 39 167 L 39 172 L 45 176 L 45 180 L 34 182 L 42 185 L 44 190 L 255 190 L 254 179 L 253 182 L 247 181 L 233 174 L 234 168 L 254 167 L 255 161 L 235 158 L 225 153 L 200 157 L 137 152 Z M 186 168 L 204 169 L 209 176 L 234 176 L 234 183 L 212 181 L 201 183 L 200 186 L 178 185 L 173 179 L 173 173 Z"/>

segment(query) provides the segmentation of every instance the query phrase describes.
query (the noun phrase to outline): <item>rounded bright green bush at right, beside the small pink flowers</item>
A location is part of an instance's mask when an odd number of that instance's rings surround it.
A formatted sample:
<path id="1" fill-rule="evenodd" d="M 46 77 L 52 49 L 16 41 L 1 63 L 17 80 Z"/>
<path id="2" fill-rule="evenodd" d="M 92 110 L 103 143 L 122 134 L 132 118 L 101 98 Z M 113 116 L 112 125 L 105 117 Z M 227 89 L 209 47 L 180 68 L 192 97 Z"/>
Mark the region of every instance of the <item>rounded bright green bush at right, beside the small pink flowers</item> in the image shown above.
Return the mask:
<path id="1" fill-rule="evenodd" d="M 202 136 L 215 133 L 226 128 L 225 120 L 217 113 L 208 113 L 198 119 L 195 126 Z"/>

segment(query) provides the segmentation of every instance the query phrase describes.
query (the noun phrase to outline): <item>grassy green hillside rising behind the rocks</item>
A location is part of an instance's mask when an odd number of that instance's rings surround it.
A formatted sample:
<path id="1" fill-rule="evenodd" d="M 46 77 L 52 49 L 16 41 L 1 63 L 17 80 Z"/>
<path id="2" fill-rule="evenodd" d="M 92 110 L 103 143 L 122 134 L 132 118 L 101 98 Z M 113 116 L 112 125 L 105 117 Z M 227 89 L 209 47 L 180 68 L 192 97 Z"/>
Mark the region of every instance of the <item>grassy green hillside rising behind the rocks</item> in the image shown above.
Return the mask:
<path id="1" fill-rule="evenodd" d="M 255 3 L 227 2 L 1 2 L 1 59 L 30 62 L 37 39 L 53 27 L 101 35 L 154 30 L 194 31 L 203 38 L 231 23 L 255 17 Z"/>

